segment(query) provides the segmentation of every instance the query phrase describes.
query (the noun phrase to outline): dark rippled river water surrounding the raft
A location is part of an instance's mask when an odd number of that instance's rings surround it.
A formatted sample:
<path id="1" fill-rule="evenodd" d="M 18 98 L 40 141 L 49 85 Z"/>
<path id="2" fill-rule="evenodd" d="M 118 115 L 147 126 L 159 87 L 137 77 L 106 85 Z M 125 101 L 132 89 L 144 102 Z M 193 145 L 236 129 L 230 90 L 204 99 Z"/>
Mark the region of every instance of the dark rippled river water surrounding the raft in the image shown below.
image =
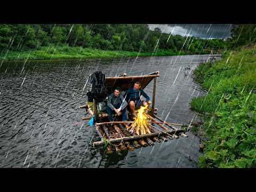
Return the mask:
<path id="1" fill-rule="evenodd" d="M 145 75 L 159 71 L 157 115 L 189 124 L 191 98 L 205 94 L 191 71 L 209 55 L 86 60 L 5 61 L 0 68 L 0 167 L 197 167 L 199 138 L 156 143 L 153 147 L 106 155 L 91 141 L 99 135 L 85 110 L 89 74 Z M 190 69 L 186 70 L 189 66 Z M 145 92 L 152 98 L 152 81 Z"/>

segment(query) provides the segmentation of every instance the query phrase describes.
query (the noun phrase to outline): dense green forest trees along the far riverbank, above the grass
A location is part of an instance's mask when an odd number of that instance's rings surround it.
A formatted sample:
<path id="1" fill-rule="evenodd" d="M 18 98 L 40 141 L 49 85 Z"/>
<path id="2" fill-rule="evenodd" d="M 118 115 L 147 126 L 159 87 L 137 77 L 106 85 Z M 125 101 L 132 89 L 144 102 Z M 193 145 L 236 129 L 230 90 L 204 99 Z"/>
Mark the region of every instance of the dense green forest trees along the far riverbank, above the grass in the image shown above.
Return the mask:
<path id="1" fill-rule="evenodd" d="M 209 53 L 204 49 L 225 49 L 223 39 L 201 39 L 163 34 L 144 24 L 41 24 L 0 25 L 0 53 L 28 51 L 49 45 L 81 46 L 100 50 Z"/>

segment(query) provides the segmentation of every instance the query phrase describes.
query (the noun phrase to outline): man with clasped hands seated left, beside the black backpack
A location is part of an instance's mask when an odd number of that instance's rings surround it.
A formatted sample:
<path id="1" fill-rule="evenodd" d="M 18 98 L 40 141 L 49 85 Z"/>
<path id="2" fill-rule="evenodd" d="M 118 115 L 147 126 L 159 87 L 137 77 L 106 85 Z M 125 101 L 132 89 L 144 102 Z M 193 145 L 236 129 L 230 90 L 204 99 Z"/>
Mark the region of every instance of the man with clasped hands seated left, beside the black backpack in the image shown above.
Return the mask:
<path id="1" fill-rule="evenodd" d="M 115 92 L 111 93 L 108 96 L 107 100 L 107 113 L 108 113 L 108 118 L 110 122 L 113 122 L 113 117 L 112 114 L 116 113 L 117 116 L 121 115 L 122 111 L 122 120 L 127 121 L 127 102 L 125 101 L 124 97 L 122 94 L 120 94 L 120 88 L 116 87 Z M 113 125 L 113 124 L 111 124 Z"/>

